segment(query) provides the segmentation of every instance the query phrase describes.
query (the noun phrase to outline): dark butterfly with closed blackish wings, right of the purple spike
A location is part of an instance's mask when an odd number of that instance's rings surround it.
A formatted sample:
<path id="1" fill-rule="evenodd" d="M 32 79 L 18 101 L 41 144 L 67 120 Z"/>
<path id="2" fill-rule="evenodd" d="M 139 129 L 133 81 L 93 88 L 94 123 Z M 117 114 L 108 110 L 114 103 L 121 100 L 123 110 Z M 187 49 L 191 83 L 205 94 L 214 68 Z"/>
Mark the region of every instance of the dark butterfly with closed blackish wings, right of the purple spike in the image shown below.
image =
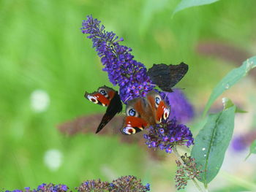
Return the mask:
<path id="1" fill-rule="evenodd" d="M 189 66 L 184 63 L 178 65 L 154 64 L 148 69 L 147 74 L 162 91 L 172 92 L 171 88 L 187 74 L 188 69 Z"/>

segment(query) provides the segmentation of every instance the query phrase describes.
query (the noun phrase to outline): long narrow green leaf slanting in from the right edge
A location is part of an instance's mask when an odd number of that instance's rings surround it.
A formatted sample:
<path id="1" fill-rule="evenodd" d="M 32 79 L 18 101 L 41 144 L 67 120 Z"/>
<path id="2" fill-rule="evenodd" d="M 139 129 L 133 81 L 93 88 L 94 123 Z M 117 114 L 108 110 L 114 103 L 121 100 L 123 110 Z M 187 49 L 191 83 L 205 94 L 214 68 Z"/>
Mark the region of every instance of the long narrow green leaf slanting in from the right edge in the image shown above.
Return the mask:
<path id="1" fill-rule="evenodd" d="M 242 77 L 246 76 L 246 74 L 249 72 L 249 70 L 255 68 L 256 66 L 256 56 L 247 59 L 247 61 L 244 61 L 244 63 L 236 68 L 233 69 L 231 72 L 229 72 L 214 88 L 214 90 L 211 93 L 211 96 L 206 104 L 206 108 L 203 111 L 203 116 L 206 115 L 206 112 L 211 107 L 211 104 L 214 103 L 214 101 L 227 89 L 231 88 L 233 85 L 238 82 L 238 80 L 241 80 Z"/>

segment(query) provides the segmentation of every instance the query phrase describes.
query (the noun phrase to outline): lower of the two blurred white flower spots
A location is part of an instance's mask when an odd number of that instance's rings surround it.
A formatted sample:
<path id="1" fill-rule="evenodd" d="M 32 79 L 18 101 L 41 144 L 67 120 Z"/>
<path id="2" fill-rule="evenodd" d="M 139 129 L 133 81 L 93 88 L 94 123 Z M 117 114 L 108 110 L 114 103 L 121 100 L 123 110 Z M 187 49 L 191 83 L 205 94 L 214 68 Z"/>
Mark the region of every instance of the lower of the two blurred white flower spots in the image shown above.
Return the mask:
<path id="1" fill-rule="evenodd" d="M 51 171 L 56 171 L 62 164 L 62 158 L 61 151 L 56 149 L 47 150 L 44 156 L 44 163 Z"/>

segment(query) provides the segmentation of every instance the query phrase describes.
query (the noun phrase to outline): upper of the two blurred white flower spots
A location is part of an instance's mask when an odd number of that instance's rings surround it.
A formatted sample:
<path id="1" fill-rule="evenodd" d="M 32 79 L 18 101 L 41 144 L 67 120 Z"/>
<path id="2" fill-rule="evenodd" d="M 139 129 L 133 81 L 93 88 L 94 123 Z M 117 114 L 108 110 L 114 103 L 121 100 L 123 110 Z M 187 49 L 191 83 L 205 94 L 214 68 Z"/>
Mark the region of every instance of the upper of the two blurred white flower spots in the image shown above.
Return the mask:
<path id="1" fill-rule="evenodd" d="M 34 112 L 44 112 L 50 104 L 50 97 L 43 90 L 35 90 L 31 93 L 31 108 Z"/>

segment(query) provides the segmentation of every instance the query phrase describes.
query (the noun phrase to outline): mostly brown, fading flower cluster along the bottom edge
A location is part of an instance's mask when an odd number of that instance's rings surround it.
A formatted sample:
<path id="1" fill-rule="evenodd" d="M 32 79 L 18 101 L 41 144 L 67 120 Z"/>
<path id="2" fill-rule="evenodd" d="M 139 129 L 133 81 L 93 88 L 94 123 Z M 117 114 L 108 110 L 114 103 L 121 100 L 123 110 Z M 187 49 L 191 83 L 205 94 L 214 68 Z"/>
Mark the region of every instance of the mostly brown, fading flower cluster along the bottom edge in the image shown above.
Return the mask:
<path id="1" fill-rule="evenodd" d="M 141 180 L 135 176 L 123 176 L 112 183 L 102 182 L 101 180 L 87 180 L 83 182 L 78 189 L 78 192 L 146 192 L 150 191 L 149 184 L 143 185 Z"/>

